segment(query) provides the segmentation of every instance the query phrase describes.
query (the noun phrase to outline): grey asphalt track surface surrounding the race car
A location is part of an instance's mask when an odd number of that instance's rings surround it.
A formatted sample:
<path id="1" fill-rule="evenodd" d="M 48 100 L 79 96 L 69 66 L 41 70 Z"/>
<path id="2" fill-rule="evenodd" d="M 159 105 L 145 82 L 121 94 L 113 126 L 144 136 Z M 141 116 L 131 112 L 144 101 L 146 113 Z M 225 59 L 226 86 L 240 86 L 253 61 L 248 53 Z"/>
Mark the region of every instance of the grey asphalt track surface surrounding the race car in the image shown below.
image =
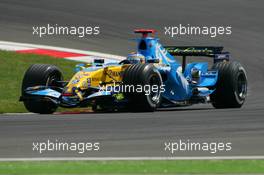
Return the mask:
<path id="1" fill-rule="evenodd" d="M 210 105 L 155 113 L 86 113 L 0 116 L 0 157 L 171 156 L 165 141 L 232 142 L 232 151 L 177 152 L 173 156 L 264 155 L 264 1 L 246 0 L 1 0 L 0 39 L 126 55 L 135 44 L 134 28 L 155 28 L 168 45 L 223 45 L 246 68 L 248 98 L 241 109 L 215 110 Z M 32 35 L 32 26 L 97 25 L 97 37 Z M 216 38 L 164 35 L 164 26 L 231 25 L 231 36 Z M 100 142 L 97 152 L 32 151 L 32 142 L 47 139 Z"/>

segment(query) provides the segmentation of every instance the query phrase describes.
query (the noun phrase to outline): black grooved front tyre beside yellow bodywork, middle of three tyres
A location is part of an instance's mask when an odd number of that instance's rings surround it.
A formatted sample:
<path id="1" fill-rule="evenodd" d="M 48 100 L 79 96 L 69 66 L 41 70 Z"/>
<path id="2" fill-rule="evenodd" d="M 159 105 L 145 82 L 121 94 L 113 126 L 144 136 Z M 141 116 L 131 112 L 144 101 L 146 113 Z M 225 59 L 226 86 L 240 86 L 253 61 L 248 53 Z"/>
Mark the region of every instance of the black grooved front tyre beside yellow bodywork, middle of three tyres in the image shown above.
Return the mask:
<path id="1" fill-rule="evenodd" d="M 126 88 L 124 93 L 129 100 L 129 110 L 147 112 L 155 111 L 159 107 L 162 78 L 153 64 L 133 64 L 129 66 L 123 74 L 123 83 L 125 87 L 134 87 L 133 92 L 131 88 Z M 138 87 L 142 87 L 142 91 Z"/>

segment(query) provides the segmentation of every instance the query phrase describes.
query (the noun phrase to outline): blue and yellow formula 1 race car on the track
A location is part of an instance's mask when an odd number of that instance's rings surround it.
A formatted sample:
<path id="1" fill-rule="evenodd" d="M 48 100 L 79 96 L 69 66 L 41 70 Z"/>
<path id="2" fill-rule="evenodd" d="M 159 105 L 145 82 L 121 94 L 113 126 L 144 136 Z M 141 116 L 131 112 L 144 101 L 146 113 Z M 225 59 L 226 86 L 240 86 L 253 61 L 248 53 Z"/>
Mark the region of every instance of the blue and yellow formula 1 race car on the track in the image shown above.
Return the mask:
<path id="1" fill-rule="evenodd" d="M 120 62 L 76 65 L 76 74 L 63 81 L 54 65 L 34 64 L 26 71 L 22 96 L 28 111 L 53 113 L 57 107 L 92 107 L 94 111 L 154 111 L 157 108 L 212 103 L 215 108 L 240 108 L 246 99 L 247 76 L 238 62 L 229 61 L 223 47 L 162 46 L 135 30 L 137 51 Z M 175 57 L 174 57 L 175 56 Z M 188 63 L 188 56 L 211 57 Z M 178 61 L 182 57 L 182 62 Z"/>

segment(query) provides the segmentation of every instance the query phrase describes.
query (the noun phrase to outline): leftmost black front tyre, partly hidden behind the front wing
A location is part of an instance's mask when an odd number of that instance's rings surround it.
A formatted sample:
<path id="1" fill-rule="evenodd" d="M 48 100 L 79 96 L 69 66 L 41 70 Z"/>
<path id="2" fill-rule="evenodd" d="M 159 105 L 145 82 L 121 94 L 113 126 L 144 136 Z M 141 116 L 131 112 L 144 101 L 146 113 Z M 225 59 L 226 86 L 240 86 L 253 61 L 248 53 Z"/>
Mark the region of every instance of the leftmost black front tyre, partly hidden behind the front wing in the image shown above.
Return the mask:
<path id="1" fill-rule="evenodd" d="M 32 86 L 55 86 L 57 81 L 61 81 L 62 73 L 56 66 L 48 64 L 33 64 L 26 71 L 22 82 L 22 96 L 25 94 L 25 89 Z M 56 111 L 57 105 L 52 101 L 34 100 L 24 101 L 24 106 L 29 112 L 40 114 L 51 114 Z"/>

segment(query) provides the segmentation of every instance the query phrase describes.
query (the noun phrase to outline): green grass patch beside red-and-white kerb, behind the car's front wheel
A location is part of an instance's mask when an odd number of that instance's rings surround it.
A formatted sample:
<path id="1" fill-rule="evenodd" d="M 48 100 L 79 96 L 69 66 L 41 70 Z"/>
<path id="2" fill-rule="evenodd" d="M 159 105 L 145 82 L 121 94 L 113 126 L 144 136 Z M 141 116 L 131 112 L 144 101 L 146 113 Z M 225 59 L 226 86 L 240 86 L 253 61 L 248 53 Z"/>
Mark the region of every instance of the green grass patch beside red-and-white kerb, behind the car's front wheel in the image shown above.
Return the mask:
<path id="1" fill-rule="evenodd" d="M 73 69 L 77 64 L 74 61 L 49 56 L 0 51 L 0 113 L 27 112 L 23 103 L 18 100 L 24 73 L 35 63 L 58 66 L 63 72 L 64 79 L 69 79 L 74 74 Z"/>

